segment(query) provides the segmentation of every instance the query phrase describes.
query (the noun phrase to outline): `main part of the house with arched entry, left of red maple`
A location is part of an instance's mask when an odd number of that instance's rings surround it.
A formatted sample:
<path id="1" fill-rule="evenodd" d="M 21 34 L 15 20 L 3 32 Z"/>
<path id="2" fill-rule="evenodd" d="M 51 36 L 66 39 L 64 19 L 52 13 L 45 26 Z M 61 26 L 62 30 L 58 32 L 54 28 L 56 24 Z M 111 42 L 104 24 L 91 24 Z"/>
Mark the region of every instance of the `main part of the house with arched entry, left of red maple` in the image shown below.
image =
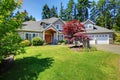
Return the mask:
<path id="1" fill-rule="evenodd" d="M 22 24 L 18 32 L 22 39 L 31 40 L 33 37 L 41 37 L 47 44 L 55 44 L 63 40 L 61 32 L 64 22 L 59 18 L 43 19 L 41 21 L 27 21 Z"/>

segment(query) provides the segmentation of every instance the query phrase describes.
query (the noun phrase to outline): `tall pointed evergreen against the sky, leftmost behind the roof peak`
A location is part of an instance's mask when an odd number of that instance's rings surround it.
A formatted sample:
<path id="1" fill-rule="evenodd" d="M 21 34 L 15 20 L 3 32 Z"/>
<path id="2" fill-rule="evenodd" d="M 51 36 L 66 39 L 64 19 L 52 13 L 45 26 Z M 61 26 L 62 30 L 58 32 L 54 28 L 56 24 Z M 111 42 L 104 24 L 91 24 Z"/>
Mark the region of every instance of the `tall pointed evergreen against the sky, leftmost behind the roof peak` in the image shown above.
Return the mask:
<path id="1" fill-rule="evenodd" d="M 48 7 L 47 4 L 45 4 L 42 9 L 42 19 L 47 18 L 50 18 L 50 8 Z"/>

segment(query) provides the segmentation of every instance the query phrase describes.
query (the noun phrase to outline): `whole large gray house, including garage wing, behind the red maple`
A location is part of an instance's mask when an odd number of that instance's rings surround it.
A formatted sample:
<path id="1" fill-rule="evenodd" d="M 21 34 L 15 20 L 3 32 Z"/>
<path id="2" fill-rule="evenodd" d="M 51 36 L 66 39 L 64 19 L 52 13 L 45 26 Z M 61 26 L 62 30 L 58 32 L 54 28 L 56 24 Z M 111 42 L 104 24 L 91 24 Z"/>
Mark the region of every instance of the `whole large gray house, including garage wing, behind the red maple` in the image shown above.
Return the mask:
<path id="1" fill-rule="evenodd" d="M 94 22 L 87 20 L 82 23 L 86 29 L 87 35 L 91 38 L 90 44 L 109 44 L 113 39 L 113 31 L 95 25 Z M 41 21 L 27 21 L 18 29 L 22 39 L 31 40 L 33 37 L 41 37 L 47 44 L 55 44 L 63 40 L 62 26 L 64 21 L 60 18 L 49 18 Z"/>

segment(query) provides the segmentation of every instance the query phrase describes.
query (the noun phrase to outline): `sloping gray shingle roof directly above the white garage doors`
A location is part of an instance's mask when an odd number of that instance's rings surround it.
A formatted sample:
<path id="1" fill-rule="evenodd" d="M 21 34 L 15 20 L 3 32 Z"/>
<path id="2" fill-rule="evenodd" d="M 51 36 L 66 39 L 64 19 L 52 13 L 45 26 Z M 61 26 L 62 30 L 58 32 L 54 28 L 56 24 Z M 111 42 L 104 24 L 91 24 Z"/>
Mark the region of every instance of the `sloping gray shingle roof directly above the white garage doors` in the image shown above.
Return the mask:
<path id="1" fill-rule="evenodd" d="M 87 33 L 111 33 L 113 32 L 112 30 L 94 25 L 94 29 L 93 30 L 86 30 Z"/>

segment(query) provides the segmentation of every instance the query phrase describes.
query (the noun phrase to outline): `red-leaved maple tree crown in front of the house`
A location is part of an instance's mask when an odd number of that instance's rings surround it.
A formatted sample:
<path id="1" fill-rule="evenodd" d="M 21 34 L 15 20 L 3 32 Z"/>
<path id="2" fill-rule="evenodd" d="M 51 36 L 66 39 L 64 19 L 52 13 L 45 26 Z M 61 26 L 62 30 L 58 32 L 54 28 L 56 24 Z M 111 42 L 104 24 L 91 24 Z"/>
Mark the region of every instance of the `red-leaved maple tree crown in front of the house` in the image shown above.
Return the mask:
<path id="1" fill-rule="evenodd" d="M 71 20 L 63 25 L 64 38 L 70 43 L 80 41 L 84 45 L 84 41 L 88 39 L 86 30 L 79 20 Z"/>

